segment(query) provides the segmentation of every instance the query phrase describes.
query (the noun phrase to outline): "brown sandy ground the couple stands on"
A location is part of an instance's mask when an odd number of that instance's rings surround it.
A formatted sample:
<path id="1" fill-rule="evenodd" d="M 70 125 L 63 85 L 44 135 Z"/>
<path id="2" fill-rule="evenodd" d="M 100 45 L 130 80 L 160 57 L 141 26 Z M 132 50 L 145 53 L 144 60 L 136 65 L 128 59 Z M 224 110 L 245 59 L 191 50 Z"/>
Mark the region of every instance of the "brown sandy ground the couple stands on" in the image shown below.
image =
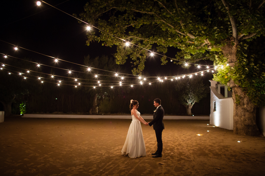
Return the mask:
<path id="1" fill-rule="evenodd" d="M 144 125 L 147 156 L 129 158 L 120 152 L 130 123 L 5 119 L 0 123 L 0 175 L 265 175 L 265 138 L 234 135 L 207 125 L 208 120 L 164 120 L 162 158 L 152 158 L 155 132 Z"/>

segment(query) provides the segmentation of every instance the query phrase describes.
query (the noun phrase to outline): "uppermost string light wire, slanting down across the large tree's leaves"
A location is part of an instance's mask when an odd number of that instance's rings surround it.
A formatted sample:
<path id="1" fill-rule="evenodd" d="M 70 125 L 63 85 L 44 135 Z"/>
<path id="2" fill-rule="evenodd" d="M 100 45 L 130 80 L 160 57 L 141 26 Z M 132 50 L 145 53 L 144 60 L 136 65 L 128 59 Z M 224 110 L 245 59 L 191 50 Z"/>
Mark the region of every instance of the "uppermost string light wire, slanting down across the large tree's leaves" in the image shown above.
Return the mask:
<path id="1" fill-rule="evenodd" d="M 45 4 L 48 4 L 48 3 L 45 2 L 45 1 L 42 1 L 42 2 L 44 2 Z M 50 4 L 48 4 L 48 5 L 51 6 L 51 7 L 53 7 L 53 8 L 55 8 L 55 9 L 57 9 L 57 10 L 59 10 L 59 11 L 61 11 L 61 12 L 63 12 L 63 13 L 65 13 L 65 14 L 67 14 L 67 15 L 69 15 L 69 16 L 72 16 L 72 15 L 70 15 L 69 13 L 66 13 L 66 12 L 62 11 L 61 9 L 58 9 L 58 8 L 56 8 L 56 7 L 54 7 L 54 6 L 50 5 Z M 74 16 L 72 16 L 72 17 L 74 17 Z M 74 17 L 74 18 L 76 18 L 76 17 Z M 82 20 L 79 19 L 79 18 L 76 18 L 76 19 L 79 20 L 79 21 L 82 21 Z M 117 37 L 117 36 L 115 36 L 115 35 L 113 35 L 113 34 L 111 34 L 111 33 L 108 33 L 107 31 L 104 31 L 104 30 L 102 30 L 102 29 L 100 29 L 100 28 L 97 28 L 97 27 L 95 27 L 95 26 L 93 26 L 93 25 L 91 25 L 91 24 L 89 24 L 89 23 L 87 23 L 87 22 L 85 22 L 85 21 L 82 21 L 82 22 L 83 22 L 83 23 L 86 23 L 86 24 L 92 26 L 93 28 L 96 28 L 96 29 L 98 29 L 98 30 L 100 30 L 100 31 L 102 31 L 102 32 L 105 32 L 105 33 L 107 33 L 107 34 L 109 34 L 109 35 L 111 35 L 111 36 L 113 36 L 113 37 L 116 37 L 116 38 L 118 38 L 118 39 L 120 39 L 120 40 L 122 40 L 122 41 L 125 41 L 125 42 L 127 42 L 127 43 L 130 43 L 130 42 L 128 42 L 128 41 L 126 41 L 126 40 L 124 40 L 124 39 L 122 39 L 122 38 L 119 38 L 119 37 Z M 133 43 L 130 43 L 130 44 L 135 45 L 135 44 L 133 44 Z M 135 45 L 135 46 L 136 46 L 136 47 L 139 47 L 139 48 L 142 48 L 142 49 L 144 49 L 144 50 L 147 50 L 147 51 L 149 51 L 149 52 L 151 52 L 151 53 L 155 53 L 155 52 L 153 52 L 153 51 L 150 51 L 150 50 L 148 50 L 148 49 L 146 49 L 146 48 L 143 48 L 143 47 L 140 47 L 140 46 L 138 46 L 138 45 Z M 157 54 L 157 55 L 161 55 L 161 54 L 159 54 L 159 53 L 155 53 L 155 54 Z M 174 58 L 171 58 L 171 57 L 165 56 L 165 55 L 161 55 L 161 56 L 163 56 L 163 57 L 167 57 L 167 58 L 169 58 L 170 60 L 176 60 L 176 61 L 183 62 L 183 63 L 193 64 L 193 65 L 199 65 L 199 64 L 194 64 L 194 63 L 190 63 L 190 62 L 185 62 L 185 61 L 182 61 L 182 60 L 177 60 L 177 59 L 174 59 Z M 214 66 L 214 65 L 202 65 L 202 66 Z"/>

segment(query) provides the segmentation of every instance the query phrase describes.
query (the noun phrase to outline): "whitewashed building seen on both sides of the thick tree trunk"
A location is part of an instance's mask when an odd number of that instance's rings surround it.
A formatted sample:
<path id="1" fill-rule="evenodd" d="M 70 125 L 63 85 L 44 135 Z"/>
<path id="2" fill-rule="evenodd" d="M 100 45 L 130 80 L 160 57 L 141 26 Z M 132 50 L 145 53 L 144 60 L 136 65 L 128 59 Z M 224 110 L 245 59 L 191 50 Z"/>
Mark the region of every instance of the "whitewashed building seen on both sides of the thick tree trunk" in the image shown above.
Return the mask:
<path id="1" fill-rule="evenodd" d="M 227 85 L 211 82 L 211 113 L 210 124 L 233 130 L 233 99 L 232 92 L 228 91 Z M 257 125 L 265 136 L 265 107 L 258 109 Z"/>

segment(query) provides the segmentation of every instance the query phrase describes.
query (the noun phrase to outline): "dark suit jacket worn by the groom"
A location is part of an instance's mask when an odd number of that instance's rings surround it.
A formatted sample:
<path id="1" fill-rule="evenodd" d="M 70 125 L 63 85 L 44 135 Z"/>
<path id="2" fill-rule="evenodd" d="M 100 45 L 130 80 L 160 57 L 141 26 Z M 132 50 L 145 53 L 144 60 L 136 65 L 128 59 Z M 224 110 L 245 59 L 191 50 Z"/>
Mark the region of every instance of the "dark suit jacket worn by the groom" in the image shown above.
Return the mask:
<path id="1" fill-rule="evenodd" d="M 154 112 L 153 120 L 148 123 L 149 126 L 153 125 L 154 130 L 165 129 L 164 123 L 163 123 L 164 114 L 165 114 L 165 111 L 163 107 L 159 106 Z"/>

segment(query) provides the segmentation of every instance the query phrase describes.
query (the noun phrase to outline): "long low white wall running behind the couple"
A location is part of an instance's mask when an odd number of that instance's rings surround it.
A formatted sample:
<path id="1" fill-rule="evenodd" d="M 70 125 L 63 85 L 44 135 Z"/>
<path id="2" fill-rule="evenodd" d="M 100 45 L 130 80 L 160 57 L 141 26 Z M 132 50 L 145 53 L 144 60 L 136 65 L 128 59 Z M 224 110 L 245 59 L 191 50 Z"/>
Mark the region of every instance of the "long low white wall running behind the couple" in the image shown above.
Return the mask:
<path id="1" fill-rule="evenodd" d="M 30 118 L 84 118 L 84 119 L 132 119 L 130 115 L 68 115 L 68 114 L 24 114 Z M 152 115 L 142 115 L 143 119 L 153 119 Z M 164 119 L 201 119 L 209 120 L 209 116 L 164 116 Z"/>

